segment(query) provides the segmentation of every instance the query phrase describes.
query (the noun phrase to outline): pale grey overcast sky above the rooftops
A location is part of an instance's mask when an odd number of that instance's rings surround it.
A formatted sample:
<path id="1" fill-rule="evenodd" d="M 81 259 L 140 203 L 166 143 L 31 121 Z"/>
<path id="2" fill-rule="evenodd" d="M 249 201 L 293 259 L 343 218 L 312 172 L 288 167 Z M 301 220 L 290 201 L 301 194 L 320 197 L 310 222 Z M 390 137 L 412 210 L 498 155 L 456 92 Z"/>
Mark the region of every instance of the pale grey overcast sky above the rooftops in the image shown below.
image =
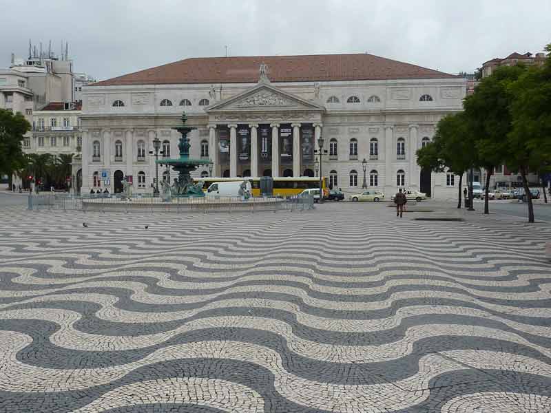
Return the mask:
<path id="1" fill-rule="evenodd" d="M 17 6 L 14 6 L 17 4 Z M 551 43 L 551 0 L 0 0 L 0 68 L 28 41 L 98 80 L 194 56 L 364 53 L 448 73 Z M 17 9 L 17 10 L 16 10 Z"/>

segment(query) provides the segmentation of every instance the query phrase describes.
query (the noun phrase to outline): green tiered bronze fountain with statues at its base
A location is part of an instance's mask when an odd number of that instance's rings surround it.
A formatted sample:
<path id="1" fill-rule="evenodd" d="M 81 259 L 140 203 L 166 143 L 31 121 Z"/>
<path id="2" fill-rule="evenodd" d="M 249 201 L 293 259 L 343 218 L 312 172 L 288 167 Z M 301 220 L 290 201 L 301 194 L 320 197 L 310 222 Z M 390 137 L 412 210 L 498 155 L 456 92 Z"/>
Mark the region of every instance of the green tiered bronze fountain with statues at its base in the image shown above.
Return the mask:
<path id="1" fill-rule="evenodd" d="M 172 129 L 180 132 L 182 137 L 178 143 L 178 149 L 180 151 L 180 158 L 168 158 L 168 159 L 159 159 L 156 162 L 159 165 L 167 165 L 172 167 L 175 171 L 178 171 L 178 178 L 174 179 L 174 184 L 170 187 L 171 194 L 166 195 L 167 193 L 167 184 L 163 182 L 163 198 L 169 198 L 170 195 L 176 197 L 201 197 L 205 196 L 205 193 L 202 191 L 202 182 L 194 184 L 193 179 L 189 175 L 191 171 L 195 171 L 200 165 L 209 165 L 211 160 L 205 159 L 193 159 L 189 158 L 189 138 L 187 134 L 190 131 L 197 129 L 196 127 L 191 127 L 186 125 L 187 116 L 185 112 L 182 114 L 182 123 L 183 126 L 174 127 Z"/>

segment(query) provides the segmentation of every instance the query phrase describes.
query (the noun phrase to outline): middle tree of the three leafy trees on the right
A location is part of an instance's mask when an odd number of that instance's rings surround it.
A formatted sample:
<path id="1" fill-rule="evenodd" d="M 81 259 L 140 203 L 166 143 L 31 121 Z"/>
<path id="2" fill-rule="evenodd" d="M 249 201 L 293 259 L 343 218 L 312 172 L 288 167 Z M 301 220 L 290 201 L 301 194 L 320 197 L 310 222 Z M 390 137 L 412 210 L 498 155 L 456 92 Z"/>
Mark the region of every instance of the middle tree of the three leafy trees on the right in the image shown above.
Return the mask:
<path id="1" fill-rule="evenodd" d="M 501 165 L 507 157 L 510 147 L 506 136 L 512 129 L 510 104 L 514 99 L 509 85 L 517 81 L 526 68 L 517 66 L 499 67 L 482 81 L 475 93 L 464 101 L 465 115 L 469 129 L 475 140 L 479 166 L 486 169 L 486 194 L 484 213 L 489 213 L 488 192 L 490 178 L 495 167 Z"/>

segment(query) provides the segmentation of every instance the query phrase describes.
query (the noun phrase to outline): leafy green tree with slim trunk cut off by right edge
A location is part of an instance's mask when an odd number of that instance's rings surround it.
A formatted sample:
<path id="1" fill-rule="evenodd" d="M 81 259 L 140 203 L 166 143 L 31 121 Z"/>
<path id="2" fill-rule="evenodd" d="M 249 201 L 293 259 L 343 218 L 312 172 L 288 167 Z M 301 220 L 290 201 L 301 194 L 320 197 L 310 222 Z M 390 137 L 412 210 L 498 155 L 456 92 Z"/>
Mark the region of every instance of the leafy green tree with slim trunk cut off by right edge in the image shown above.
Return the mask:
<path id="1" fill-rule="evenodd" d="M 551 44 L 543 67 L 530 67 L 509 85 L 514 96 L 510 105 L 512 129 L 506 143 L 510 147 L 507 165 L 521 173 L 528 200 L 528 222 L 534 222 L 532 194 L 526 175 L 551 162 Z"/>

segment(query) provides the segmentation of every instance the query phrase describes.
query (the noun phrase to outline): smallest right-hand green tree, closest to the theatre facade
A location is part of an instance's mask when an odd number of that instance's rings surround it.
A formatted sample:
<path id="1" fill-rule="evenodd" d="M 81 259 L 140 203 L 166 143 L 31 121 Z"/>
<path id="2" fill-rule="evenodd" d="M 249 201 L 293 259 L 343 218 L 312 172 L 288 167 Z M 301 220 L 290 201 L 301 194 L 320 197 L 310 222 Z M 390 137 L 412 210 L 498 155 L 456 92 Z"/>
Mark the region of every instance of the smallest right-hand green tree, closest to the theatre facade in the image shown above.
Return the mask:
<path id="1" fill-rule="evenodd" d="M 433 142 L 417 151 L 417 164 L 420 167 L 435 172 L 447 169 L 459 176 L 457 208 L 461 208 L 463 175 L 476 162 L 464 112 L 442 118 L 436 127 Z"/>

